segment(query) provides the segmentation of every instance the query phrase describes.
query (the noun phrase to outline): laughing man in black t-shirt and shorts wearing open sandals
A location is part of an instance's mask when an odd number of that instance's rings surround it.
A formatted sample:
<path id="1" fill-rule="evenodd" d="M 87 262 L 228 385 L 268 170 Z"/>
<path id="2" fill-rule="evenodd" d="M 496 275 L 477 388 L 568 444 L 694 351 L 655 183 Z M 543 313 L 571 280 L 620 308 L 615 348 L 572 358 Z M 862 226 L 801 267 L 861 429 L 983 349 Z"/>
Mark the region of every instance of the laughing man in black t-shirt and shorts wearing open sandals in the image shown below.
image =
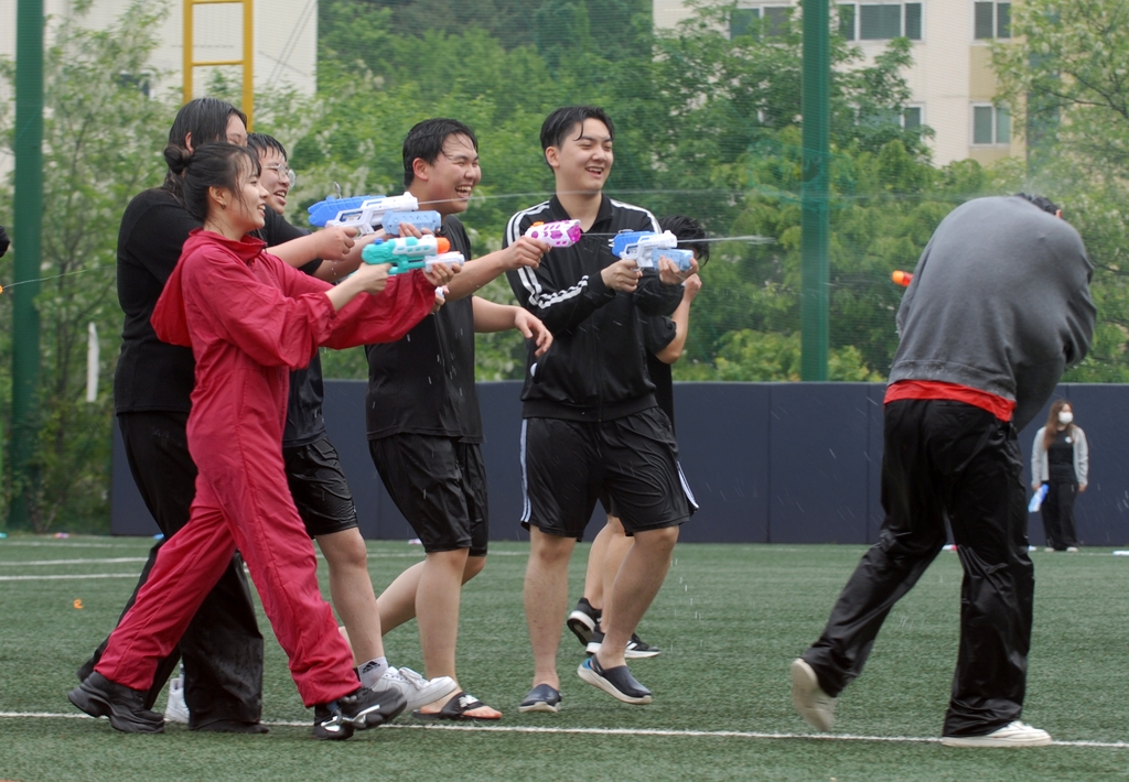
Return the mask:
<path id="1" fill-rule="evenodd" d="M 470 258 L 470 239 L 455 214 L 466 210 L 482 177 L 473 131 L 455 120 L 421 122 L 404 139 L 403 159 L 408 191 L 421 209 L 444 217 L 440 232 L 453 251 Z M 367 348 L 369 451 L 427 555 L 380 595 L 380 624 L 388 632 L 418 618 L 431 678 L 455 678 L 462 585 L 485 566 L 489 520 L 474 333 L 517 328 L 537 354 L 552 342 L 541 322 L 520 307 L 472 293 L 506 271 L 535 267 L 548 247 L 523 238 L 470 261 L 452 280 L 438 313 L 400 342 Z M 448 720 L 501 717 L 465 692 L 415 713 Z"/>

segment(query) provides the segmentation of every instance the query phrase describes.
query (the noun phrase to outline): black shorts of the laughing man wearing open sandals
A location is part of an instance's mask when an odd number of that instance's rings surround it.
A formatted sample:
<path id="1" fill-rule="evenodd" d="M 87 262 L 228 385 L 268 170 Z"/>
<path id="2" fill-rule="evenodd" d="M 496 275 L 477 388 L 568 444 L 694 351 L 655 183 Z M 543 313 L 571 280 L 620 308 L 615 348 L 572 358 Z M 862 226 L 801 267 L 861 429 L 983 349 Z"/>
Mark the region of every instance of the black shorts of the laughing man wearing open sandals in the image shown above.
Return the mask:
<path id="1" fill-rule="evenodd" d="M 487 555 L 487 471 L 476 442 L 391 434 L 369 440 L 368 452 L 423 551 L 470 548 L 471 556 Z"/>

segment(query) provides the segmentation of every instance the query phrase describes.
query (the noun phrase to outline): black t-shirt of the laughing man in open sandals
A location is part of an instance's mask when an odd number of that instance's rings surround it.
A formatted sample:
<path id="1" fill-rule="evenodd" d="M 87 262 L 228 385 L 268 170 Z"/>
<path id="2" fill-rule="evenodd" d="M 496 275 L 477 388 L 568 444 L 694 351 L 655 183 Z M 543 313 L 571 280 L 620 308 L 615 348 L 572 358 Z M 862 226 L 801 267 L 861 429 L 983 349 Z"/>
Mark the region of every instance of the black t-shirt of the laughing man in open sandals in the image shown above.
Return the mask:
<path id="1" fill-rule="evenodd" d="M 441 234 L 453 251 L 471 257 L 470 239 L 456 218 L 444 221 Z M 448 301 L 399 342 L 366 345 L 369 440 L 411 433 L 482 441 L 471 298 Z"/>

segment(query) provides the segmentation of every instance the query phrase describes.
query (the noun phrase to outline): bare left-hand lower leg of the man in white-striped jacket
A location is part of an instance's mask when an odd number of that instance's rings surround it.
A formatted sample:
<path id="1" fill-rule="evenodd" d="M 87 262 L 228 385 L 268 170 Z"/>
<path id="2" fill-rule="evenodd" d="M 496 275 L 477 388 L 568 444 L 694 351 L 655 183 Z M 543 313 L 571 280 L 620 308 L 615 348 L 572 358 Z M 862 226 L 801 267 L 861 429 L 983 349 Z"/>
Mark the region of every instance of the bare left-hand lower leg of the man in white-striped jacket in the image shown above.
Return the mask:
<path id="1" fill-rule="evenodd" d="M 533 645 L 533 686 L 560 689 L 557 649 L 568 610 L 568 561 L 576 541 L 530 529 L 530 563 L 525 569 L 525 621 Z M 623 642 L 627 645 L 627 641 Z"/>

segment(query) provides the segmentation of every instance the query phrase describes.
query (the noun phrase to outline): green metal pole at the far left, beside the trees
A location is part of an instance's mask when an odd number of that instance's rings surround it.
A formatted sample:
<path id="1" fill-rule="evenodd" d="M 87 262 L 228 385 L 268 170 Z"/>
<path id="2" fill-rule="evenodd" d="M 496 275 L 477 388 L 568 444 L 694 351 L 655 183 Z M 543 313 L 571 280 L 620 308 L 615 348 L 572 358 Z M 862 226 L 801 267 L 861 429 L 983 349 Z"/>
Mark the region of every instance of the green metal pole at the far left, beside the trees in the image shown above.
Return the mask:
<path id="1" fill-rule="evenodd" d="M 9 526 L 29 528 L 37 502 L 40 292 L 43 227 L 43 0 L 16 12 L 16 202 L 12 249 L 11 465 Z"/>

